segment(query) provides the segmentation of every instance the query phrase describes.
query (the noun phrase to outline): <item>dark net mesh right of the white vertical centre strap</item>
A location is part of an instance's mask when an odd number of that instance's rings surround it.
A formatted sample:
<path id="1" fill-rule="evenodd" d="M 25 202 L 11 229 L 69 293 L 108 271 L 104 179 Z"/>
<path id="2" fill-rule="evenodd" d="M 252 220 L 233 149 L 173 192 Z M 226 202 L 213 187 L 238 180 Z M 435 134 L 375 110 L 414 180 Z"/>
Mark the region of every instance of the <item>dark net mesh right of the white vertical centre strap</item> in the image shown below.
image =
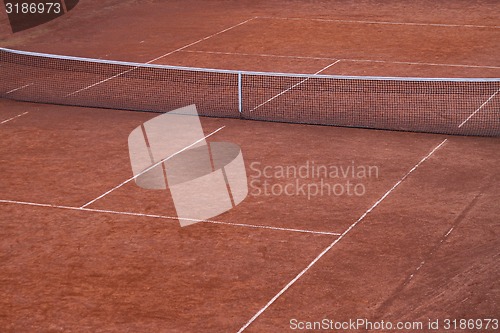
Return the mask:
<path id="1" fill-rule="evenodd" d="M 500 135 L 499 82 L 248 75 L 243 86 L 244 114 L 252 119 Z"/>

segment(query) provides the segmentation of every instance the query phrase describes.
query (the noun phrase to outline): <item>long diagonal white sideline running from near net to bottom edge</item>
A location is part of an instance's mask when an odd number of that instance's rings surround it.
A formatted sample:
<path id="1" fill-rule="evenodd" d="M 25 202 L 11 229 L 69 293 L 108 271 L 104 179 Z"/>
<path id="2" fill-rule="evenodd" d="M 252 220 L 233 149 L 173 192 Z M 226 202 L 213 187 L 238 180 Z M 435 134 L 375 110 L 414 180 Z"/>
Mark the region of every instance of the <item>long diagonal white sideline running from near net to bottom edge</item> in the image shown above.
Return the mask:
<path id="1" fill-rule="evenodd" d="M 292 285 L 297 282 L 298 279 L 300 279 L 311 267 L 314 266 L 328 251 L 330 251 L 338 242 L 340 242 L 354 227 L 356 227 L 363 219 L 372 211 L 374 210 L 389 194 L 391 194 L 392 191 L 394 191 L 408 176 L 414 172 L 422 163 L 424 163 L 429 157 L 432 156 L 441 146 L 443 146 L 448 139 L 444 139 L 439 145 L 437 145 L 432 151 L 427 154 L 424 158 L 420 160 L 413 168 L 410 169 L 394 186 L 391 187 L 390 190 L 388 190 L 380 199 L 377 200 L 366 212 L 363 213 L 363 215 L 360 216 L 359 219 L 356 220 L 347 230 L 345 230 L 337 239 L 335 239 L 326 249 L 323 250 L 314 260 L 307 265 L 306 268 L 304 268 L 295 278 L 293 278 L 288 284 L 283 287 L 276 295 L 274 295 L 273 298 L 262 308 L 260 309 L 248 322 L 243 325 L 238 333 L 243 332 L 248 326 L 250 326 L 264 311 L 266 311 L 283 293 L 285 293 Z"/>

